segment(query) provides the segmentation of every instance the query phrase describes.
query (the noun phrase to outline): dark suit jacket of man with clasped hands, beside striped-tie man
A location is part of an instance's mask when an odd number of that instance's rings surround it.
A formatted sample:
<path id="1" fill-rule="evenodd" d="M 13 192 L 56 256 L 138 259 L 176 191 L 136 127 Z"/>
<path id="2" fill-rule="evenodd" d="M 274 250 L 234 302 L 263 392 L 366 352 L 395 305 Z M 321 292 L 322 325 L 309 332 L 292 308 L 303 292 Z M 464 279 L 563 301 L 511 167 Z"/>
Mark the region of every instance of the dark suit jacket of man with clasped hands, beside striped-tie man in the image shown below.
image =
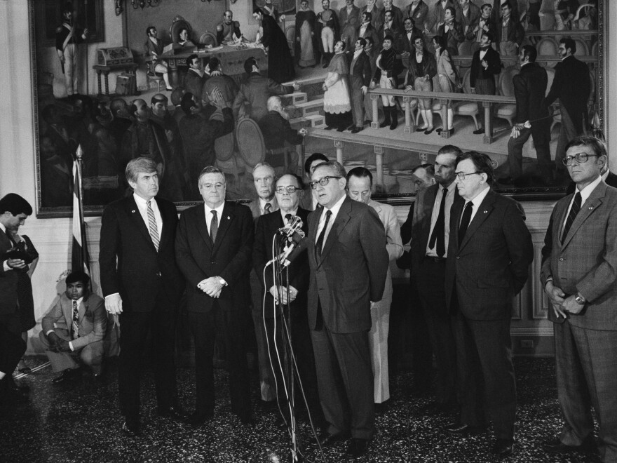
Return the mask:
<path id="1" fill-rule="evenodd" d="M 215 243 L 208 234 L 203 203 L 184 210 L 176 234 L 176 258 L 188 283 L 187 309 L 208 312 L 215 304 L 224 310 L 248 309 L 252 246 L 253 219 L 248 207 L 225 201 Z M 197 288 L 210 276 L 227 282 L 218 299 Z"/>

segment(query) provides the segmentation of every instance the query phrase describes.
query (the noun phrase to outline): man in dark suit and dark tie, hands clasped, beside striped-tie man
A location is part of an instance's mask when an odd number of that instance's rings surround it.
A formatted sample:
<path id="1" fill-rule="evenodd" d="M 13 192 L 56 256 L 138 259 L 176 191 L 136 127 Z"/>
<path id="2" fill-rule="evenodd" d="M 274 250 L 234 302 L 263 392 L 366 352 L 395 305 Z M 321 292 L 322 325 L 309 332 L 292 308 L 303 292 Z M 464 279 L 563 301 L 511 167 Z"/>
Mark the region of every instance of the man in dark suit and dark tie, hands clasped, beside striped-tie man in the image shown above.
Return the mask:
<path id="1" fill-rule="evenodd" d="M 253 246 L 250 209 L 225 201 L 225 175 L 215 167 L 199 174 L 203 204 L 184 210 L 176 236 L 177 262 L 187 279 L 187 309 L 195 337 L 196 410 L 189 424 L 212 417 L 215 384 L 212 354 L 215 339 L 225 346 L 231 410 L 252 422 L 243 319 L 249 304 L 248 275 Z"/>

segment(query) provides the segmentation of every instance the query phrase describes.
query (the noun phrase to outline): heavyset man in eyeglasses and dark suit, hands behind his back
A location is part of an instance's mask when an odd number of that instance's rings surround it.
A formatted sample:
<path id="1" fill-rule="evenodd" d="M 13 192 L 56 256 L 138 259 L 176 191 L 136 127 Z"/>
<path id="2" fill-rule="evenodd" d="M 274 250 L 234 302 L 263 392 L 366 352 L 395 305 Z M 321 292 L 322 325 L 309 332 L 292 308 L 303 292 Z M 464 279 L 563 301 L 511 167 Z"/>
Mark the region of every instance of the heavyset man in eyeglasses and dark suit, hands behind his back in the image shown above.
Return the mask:
<path id="1" fill-rule="evenodd" d="M 446 430 L 476 434 L 486 430 L 488 418 L 495 434 L 491 450 L 506 457 L 514 450 L 516 412 L 512 300 L 527 281 L 534 246 L 520 204 L 491 189 L 489 156 L 461 154 L 455 173 L 464 201 L 450 210 L 445 289 L 453 317 L 461 415 Z"/>

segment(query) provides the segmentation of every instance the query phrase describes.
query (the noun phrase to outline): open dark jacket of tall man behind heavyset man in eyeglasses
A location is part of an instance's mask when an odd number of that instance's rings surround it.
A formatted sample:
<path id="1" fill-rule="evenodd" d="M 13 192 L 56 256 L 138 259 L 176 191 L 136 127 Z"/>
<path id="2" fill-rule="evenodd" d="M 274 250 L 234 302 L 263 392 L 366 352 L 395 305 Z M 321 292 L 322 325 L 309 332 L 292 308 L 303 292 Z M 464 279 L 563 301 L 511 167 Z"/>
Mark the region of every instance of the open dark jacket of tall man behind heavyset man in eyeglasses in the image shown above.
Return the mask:
<path id="1" fill-rule="evenodd" d="M 454 188 L 454 203 L 452 206 L 459 203 L 464 203 L 459 190 L 453 183 L 449 188 Z M 426 255 L 426 245 L 430 238 L 430 219 L 433 215 L 433 206 L 435 205 L 435 196 L 439 192 L 439 185 L 430 185 L 425 189 L 421 189 L 416 195 L 416 203 L 414 206 L 414 216 L 412 221 L 412 243 L 409 253 L 412 259 L 412 277 L 420 271 L 420 265 Z M 440 193 L 439 193 L 440 194 Z M 446 224 L 448 227 L 449 224 Z M 452 234 L 452 231 L 450 231 Z"/>

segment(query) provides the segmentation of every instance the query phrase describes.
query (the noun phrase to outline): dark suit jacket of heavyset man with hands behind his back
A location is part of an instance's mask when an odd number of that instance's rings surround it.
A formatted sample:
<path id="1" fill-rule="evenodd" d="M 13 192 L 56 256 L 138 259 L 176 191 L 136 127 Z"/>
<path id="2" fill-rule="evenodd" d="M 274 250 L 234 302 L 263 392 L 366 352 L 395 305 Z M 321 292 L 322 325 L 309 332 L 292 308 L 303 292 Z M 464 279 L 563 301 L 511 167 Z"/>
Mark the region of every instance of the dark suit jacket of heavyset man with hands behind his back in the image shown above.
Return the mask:
<path id="1" fill-rule="evenodd" d="M 450 210 L 446 261 L 446 302 L 472 320 L 512 316 L 512 298 L 520 292 L 534 260 L 531 234 L 519 203 L 489 191 L 470 222 L 461 246 L 459 224 L 464 201 Z"/>

